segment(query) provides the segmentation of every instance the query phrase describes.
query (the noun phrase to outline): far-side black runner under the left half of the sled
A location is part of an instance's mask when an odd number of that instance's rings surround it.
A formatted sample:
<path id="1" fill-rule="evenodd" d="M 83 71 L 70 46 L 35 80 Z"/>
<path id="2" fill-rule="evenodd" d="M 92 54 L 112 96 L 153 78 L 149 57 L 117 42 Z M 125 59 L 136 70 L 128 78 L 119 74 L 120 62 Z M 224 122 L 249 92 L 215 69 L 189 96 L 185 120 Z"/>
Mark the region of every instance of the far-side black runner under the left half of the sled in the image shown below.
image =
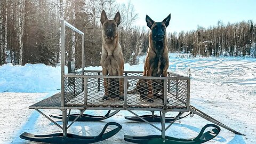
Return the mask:
<path id="1" fill-rule="evenodd" d="M 71 114 L 69 115 L 68 120 L 69 121 L 74 121 L 75 118 L 77 118 L 78 115 L 80 115 L 76 121 L 91 121 L 91 122 L 96 122 L 96 121 L 102 121 L 103 119 L 107 119 L 109 117 L 114 116 L 117 114 L 120 110 L 115 110 L 114 112 L 110 113 L 111 110 L 108 110 L 107 114 L 104 116 L 95 116 L 95 115 L 89 115 L 89 114 Z M 62 119 L 62 115 L 50 115 L 50 117 L 53 118 L 58 118 Z"/>

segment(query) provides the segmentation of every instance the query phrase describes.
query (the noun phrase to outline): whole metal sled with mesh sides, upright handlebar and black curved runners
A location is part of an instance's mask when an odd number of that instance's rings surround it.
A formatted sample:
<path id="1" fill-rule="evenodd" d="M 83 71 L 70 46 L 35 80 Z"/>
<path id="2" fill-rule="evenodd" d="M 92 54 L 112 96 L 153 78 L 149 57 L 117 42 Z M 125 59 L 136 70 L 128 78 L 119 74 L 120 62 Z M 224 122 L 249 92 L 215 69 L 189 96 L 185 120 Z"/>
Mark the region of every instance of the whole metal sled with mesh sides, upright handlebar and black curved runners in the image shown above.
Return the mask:
<path id="1" fill-rule="evenodd" d="M 69 73 L 65 73 L 65 26 L 75 30 L 77 33 L 82 35 L 82 70 L 71 70 Z M 116 113 L 118 113 L 119 110 L 129 111 L 132 115 L 135 116 L 126 116 L 126 119 L 146 122 L 161 132 L 161 135 L 148 135 L 144 137 L 131 135 L 124 136 L 124 140 L 134 143 L 203 143 L 213 139 L 216 137 L 216 135 L 219 134 L 219 126 L 236 134 L 241 134 L 218 122 L 211 116 L 206 115 L 195 107 L 190 106 L 189 77 L 171 72 L 167 74 L 167 77 L 144 77 L 141 76 L 142 71 L 124 71 L 124 76 L 103 76 L 100 70 L 85 70 L 84 34 L 64 20 L 61 20 L 61 47 L 61 92 L 54 94 L 42 101 L 39 101 L 32 106 L 29 106 L 29 109 L 37 110 L 38 113 L 42 114 L 53 124 L 58 126 L 62 132 L 47 135 L 23 133 L 20 135 L 20 138 L 22 139 L 49 143 L 92 143 L 106 140 L 121 130 L 122 126 L 115 122 L 107 123 L 98 136 L 90 137 L 71 134 L 68 133 L 67 130 L 76 121 L 101 121 L 103 119 L 114 116 Z M 109 84 L 114 85 L 109 86 L 109 89 L 113 95 L 111 95 L 111 98 L 108 100 L 102 100 L 102 97 L 104 96 L 103 79 L 111 79 Z M 118 83 L 118 81 L 121 79 L 124 82 L 123 100 L 118 98 L 119 89 L 118 86 L 116 86 L 116 83 Z M 153 86 L 160 87 L 160 90 L 163 88 L 163 91 L 159 91 L 163 93 L 163 99 L 153 97 L 154 102 L 148 102 L 146 99 L 141 99 L 140 95 L 137 93 L 127 93 L 127 91 L 134 89 L 139 79 L 143 79 L 143 81 L 151 79 L 150 81 L 154 82 Z M 146 94 L 148 93 L 147 90 L 144 92 Z M 62 115 L 51 115 L 49 117 L 45 115 L 40 109 L 59 109 L 62 111 Z M 71 110 L 80 110 L 81 113 L 71 114 Z M 86 110 L 108 110 L 108 113 L 105 116 L 93 116 L 84 114 Z M 110 113 L 110 110 L 115 111 Z M 155 116 L 153 114 L 139 116 L 137 111 L 159 111 L 160 115 Z M 166 117 L 166 113 L 171 111 L 179 112 L 179 114 L 175 117 Z M 182 116 L 185 112 L 201 116 L 214 124 L 204 126 L 198 136 L 193 139 L 177 139 L 165 135 L 165 132 L 175 121 L 186 117 Z M 55 122 L 53 118 L 62 118 L 62 126 Z M 72 122 L 68 125 L 68 121 Z M 161 128 L 157 127 L 152 122 L 161 122 Z M 170 122 L 170 124 L 165 127 L 165 124 L 168 122 Z M 105 130 L 110 125 L 115 125 L 117 127 L 105 133 Z M 209 126 L 214 128 L 211 131 L 204 132 L 206 127 Z"/>

